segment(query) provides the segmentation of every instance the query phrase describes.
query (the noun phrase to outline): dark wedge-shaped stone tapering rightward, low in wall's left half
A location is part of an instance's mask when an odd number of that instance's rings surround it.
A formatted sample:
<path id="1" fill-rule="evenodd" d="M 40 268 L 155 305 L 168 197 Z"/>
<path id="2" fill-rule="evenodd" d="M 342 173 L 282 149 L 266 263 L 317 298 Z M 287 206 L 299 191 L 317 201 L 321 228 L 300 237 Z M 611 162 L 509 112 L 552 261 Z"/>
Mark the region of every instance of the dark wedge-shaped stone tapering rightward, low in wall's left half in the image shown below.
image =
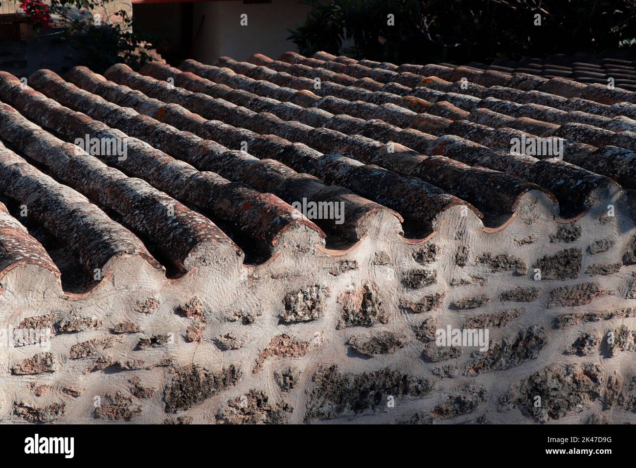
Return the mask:
<path id="1" fill-rule="evenodd" d="M 218 372 L 210 372 L 196 364 L 173 368 L 163 393 L 165 411 L 176 413 L 191 408 L 236 385 L 241 376 L 242 372 L 234 365 Z"/>

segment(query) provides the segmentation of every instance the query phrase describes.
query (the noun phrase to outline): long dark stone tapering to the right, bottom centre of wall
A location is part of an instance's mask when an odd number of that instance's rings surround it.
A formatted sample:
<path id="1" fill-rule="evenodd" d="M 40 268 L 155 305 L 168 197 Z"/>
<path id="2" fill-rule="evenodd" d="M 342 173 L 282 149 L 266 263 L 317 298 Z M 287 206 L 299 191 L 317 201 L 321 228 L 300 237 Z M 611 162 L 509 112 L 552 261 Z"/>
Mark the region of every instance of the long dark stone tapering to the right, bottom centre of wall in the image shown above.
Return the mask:
<path id="1" fill-rule="evenodd" d="M 338 365 L 321 365 L 312 376 L 314 387 L 307 401 L 305 422 L 337 418 L 347 414 L 377 411 L 388 397 L 422 397 L 431 392 L 428 379 L 388 368 L 375 372 L 338 371 Z"/>

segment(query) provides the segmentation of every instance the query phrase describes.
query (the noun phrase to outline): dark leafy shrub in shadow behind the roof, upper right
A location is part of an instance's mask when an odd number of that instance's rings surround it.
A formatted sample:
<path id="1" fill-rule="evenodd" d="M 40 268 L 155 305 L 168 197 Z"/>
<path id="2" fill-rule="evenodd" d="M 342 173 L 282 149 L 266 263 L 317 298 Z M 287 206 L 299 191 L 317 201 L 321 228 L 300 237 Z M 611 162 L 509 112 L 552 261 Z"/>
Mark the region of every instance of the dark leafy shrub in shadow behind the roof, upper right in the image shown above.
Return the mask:
<path id="1" fill-rule="evenodd" d="M 395 63 L 600 52 L 633 46 L 634 0 L 317 0 L 289 39 L 318 50 Z M 389 25 L 387 15 L 394 15 Z M 541 25 L 536 25 L 540 15 Z M 343 48 L 345 41 L 353 46 Z"/>

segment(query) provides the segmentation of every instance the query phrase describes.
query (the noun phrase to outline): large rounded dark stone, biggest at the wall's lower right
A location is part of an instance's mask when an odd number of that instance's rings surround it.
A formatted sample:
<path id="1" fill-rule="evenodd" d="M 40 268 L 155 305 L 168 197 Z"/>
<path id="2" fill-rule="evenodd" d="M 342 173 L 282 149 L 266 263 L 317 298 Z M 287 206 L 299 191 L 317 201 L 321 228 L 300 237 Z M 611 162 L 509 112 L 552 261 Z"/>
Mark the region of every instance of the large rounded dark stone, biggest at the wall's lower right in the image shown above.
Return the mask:
<path id="1" fill-rule="evenodd" d="M 603 370 L 597 364 L 553 364 L 511 385 L 500 399 L 501 409 L 519 408 L 537 422 L 559 420 L 590 408 L 600 399 Z M 535 397 L 541 406 L 535 407 Z"/>

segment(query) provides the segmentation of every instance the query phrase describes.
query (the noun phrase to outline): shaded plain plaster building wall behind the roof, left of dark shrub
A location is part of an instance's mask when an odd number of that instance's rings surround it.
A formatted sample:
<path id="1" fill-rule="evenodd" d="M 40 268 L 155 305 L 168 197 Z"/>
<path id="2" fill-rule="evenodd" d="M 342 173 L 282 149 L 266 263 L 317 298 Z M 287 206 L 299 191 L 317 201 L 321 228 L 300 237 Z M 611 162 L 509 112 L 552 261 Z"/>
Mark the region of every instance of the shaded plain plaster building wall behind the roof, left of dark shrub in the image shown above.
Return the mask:
<path id="1" fill-rule="evenodd" d="M 212 63 L 221 55 L 245 60 L 254 53 L 278 57 L 287 50 L 297 50 L 287 41 L 290 33 L 305 22 L 310 7 L 299 0 L 272 0 L 272 3 L 243 3 L 240 0 L 195 3 L 193 34 L 205 15 L 194 59 Z M 247 14 L 247 26 L 240 25 L 240 15 Z"/>

